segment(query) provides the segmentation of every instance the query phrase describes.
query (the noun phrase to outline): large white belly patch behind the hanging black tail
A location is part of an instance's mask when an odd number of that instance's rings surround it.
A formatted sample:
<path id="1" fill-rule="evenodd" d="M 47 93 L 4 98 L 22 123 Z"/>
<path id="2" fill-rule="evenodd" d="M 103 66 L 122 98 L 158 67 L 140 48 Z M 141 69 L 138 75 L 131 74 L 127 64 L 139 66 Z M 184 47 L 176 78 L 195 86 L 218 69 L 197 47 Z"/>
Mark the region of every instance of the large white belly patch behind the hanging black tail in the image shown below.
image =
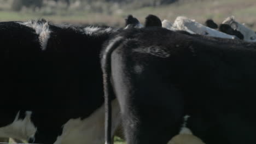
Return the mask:
<path id="1" fill-rule="evenodd" d="M 63 125 L 62 135 L 54 144 L 102 144 L 104 143 L 104 105 L 85 119 L 69 119 Z M 117 129 L 121 117 L 118 100 L 112 101 L 112 135 Z"/>

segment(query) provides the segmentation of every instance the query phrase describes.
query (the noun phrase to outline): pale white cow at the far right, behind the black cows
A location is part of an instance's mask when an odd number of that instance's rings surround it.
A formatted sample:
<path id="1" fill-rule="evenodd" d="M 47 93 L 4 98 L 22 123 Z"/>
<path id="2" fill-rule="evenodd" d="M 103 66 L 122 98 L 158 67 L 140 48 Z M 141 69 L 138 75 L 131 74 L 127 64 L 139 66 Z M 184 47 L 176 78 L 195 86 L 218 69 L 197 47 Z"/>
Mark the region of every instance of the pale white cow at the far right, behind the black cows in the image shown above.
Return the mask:
<path id="1" fill-rule="evenodd" d="M 241 23 L 235 21 L 234 16 L 227 17 L 222 24 L 226 24 L 231 26 L 232 29 L 241 32 L 243 35 L 243 40 L 249 41 L 249 42 L 255 42 L 256 41 L 256 33 L 252 31 L 252 29 L 249 29 L 245 25 L 242 25 Z"/>

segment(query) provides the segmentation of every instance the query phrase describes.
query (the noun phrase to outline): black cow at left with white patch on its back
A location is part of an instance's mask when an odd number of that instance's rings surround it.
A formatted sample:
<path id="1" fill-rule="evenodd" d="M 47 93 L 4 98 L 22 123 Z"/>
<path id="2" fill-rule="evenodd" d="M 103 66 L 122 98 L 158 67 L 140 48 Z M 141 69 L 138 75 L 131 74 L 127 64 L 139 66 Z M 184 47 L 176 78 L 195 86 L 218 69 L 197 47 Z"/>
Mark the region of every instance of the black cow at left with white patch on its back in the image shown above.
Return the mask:
<path id="1" fill-rule="evenodd" d="M 70 118 L 89 117 L 104 100 L 102 45 L 118 31 L 0 22 L 0 137 L 52 144 Z"/>

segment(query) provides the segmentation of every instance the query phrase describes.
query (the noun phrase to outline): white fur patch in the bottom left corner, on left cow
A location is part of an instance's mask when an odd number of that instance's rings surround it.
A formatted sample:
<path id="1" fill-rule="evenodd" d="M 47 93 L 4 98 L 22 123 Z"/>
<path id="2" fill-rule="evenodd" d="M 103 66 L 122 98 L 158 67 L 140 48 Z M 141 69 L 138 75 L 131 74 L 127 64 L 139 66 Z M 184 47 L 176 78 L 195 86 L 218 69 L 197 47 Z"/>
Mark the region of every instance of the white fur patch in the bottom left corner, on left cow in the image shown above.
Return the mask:
<path id="1" fill-rule="evenodd" d="M 0 128 L 0 137 L 12 137 L 26 141 L 34 138 L 37 128 L 31 122 L 31 114 L 31 111 L 26 111 L 25 118 L 18 119 L 20 115 L 20 112 L 18 112 L 13 123 Z"/>

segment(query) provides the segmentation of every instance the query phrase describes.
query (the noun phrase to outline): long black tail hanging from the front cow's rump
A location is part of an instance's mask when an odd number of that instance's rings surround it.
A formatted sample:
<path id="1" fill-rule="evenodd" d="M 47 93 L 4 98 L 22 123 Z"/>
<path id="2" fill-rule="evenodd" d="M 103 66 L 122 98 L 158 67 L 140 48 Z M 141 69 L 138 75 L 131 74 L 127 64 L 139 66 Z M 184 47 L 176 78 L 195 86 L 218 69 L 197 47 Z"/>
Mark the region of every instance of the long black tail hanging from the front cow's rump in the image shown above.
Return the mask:
<path id="1" fill-rule="evenodd" d="M 103 52 L 101 59 L 101 68 L 103 72 L 103 88 L 104 88 L 104 98 L 105 98 L 105 144 L 111 143 L 111 123 L 112 123 L 112 111 L 111 111 L 111 98 L 110 89 L 112 88 L 110 83 L 111 74 L 111 54 L 112 52 L 121 44 L 123 37 L 117 37 L 110 41 L 106 50 Z"/>

